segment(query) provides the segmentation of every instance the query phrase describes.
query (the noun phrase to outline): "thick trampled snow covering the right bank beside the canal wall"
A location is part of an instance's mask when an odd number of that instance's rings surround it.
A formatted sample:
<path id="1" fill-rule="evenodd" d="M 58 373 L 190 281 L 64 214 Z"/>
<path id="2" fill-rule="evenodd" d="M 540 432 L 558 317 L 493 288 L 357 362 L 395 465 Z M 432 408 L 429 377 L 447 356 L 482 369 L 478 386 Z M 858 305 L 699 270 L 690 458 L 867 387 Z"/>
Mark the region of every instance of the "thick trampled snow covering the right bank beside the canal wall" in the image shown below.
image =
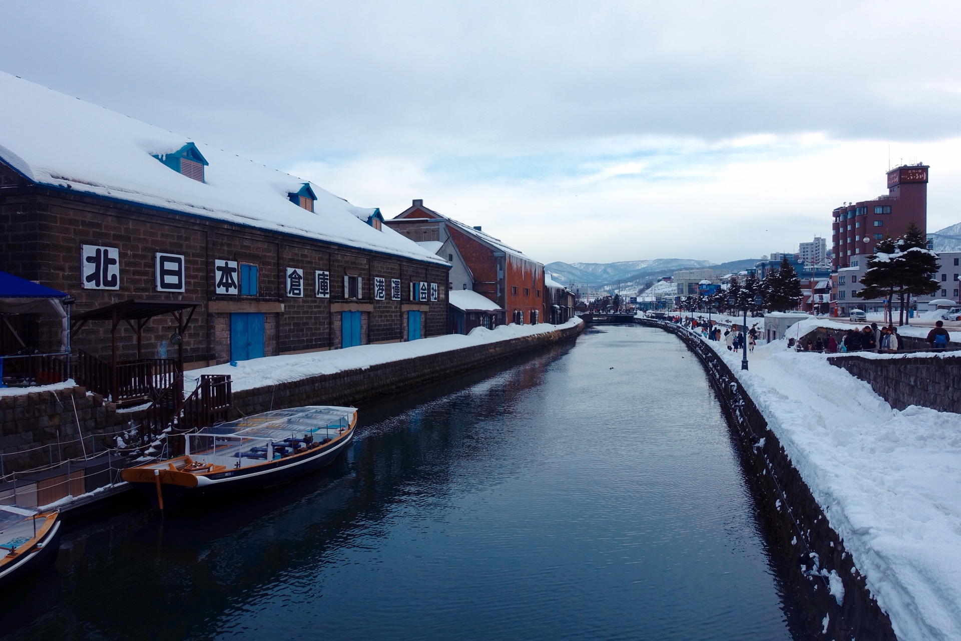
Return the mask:
<path id="1" fill-rule="evenodd" d="M 898 638 L 961 639 L 961 414 L 893 409 L 784 339 L 758 347 L 747 372 L 740 355 L 706 342 L 764 414 Z"/>

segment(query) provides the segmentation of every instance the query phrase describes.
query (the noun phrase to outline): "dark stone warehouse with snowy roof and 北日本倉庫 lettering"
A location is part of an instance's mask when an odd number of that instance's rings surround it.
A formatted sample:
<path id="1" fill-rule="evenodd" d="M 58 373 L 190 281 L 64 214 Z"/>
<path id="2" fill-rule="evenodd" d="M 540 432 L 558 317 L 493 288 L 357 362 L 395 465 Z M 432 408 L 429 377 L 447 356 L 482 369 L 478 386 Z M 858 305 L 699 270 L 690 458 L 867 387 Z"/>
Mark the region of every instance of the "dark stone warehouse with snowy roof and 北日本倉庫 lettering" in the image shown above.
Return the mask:
<path id="1" fill-rule="evenodd" d="M 76 298 L 195 303 L 186 367 L 446 333 L 450 264 L 317 185 L 0 73 L 0 270 Z M 19 330 L 56 351 L 56 328 Z M 143 357 L 181 337 L 142 329 Z M 9 332 L 9 328 L 0 323 Z M 122 358 L 136 357 L 120 323 Z M 111 323 L 74 348 L 111 351 Z"/>

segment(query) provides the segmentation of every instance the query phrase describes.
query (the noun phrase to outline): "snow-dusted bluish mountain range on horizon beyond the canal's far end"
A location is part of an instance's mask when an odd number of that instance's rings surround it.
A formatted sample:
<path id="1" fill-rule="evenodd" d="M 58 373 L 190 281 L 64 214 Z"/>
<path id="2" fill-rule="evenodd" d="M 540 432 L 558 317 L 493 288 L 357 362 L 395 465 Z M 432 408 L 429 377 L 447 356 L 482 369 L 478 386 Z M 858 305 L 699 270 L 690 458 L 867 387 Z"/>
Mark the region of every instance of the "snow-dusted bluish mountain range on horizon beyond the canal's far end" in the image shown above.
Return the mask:
<path id="1" fill-rule="evenodd" d="M 591 288 L 617 288 L 620 281 L 624 292 L 646 288 L 649 282 L 671 276 L 680 269 L 710 268 L 720 274 L 738 272 L 752 267 L 760 259 L 732 260 L 715 263 L 697 259 L 622 260 L 620 262 L 551 262 L 544 269 L 562 284 L 590 284 Z M 631 295 L 633 295 L 631 293 Z"/>

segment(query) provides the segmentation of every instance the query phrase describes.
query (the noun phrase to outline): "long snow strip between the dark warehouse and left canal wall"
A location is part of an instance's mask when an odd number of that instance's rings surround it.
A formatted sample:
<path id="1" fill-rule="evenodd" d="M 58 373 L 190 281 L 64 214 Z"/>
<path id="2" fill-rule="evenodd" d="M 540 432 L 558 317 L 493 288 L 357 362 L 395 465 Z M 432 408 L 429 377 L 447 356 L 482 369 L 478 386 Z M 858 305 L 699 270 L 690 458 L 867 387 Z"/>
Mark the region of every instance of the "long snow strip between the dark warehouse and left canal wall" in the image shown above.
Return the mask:
<path id="1" fill-rule="evenodd" d="M 234 391 L 272 385 L 279 382 L 300 381 L 311 376 L 336 374 L 352 369 L 367 369 L 405 358 L 424 357 L 442 352 L 450 352 L 474 345 L 496 343 L 510 338 L 549 333 L 564 328 L 577 327 L 582 323 L 572 318 L 563 325 L 499 325 L 494 330 L 479 327 L 471 333 L 431 336 L 406 343 L 382 345 L 358 345 L 329 352 L 312 352 L 282 357 L 263 357 L 238 361 L 236 366 L 229 363 L 214 365 L 185 372 L 184 386 L 192 391 L 204 374 L 230 374 Z"/>

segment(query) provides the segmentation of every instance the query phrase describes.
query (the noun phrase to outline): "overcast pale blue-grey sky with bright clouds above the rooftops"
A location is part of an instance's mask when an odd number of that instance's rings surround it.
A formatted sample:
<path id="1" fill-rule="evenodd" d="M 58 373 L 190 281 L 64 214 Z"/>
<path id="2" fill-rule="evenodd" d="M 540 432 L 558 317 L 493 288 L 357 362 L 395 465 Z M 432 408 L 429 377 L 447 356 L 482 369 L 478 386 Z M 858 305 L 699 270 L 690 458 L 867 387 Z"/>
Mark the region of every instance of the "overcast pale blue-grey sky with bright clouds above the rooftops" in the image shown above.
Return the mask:
<path id="1" fill-rule="evenodd" d="M 545 262 L 720 262 L 829 242 L 889 150 L 931 165 L 929 231 L 961 221 L 959 28 L 903 0 L 5 0 L 0 69 Z"/>

